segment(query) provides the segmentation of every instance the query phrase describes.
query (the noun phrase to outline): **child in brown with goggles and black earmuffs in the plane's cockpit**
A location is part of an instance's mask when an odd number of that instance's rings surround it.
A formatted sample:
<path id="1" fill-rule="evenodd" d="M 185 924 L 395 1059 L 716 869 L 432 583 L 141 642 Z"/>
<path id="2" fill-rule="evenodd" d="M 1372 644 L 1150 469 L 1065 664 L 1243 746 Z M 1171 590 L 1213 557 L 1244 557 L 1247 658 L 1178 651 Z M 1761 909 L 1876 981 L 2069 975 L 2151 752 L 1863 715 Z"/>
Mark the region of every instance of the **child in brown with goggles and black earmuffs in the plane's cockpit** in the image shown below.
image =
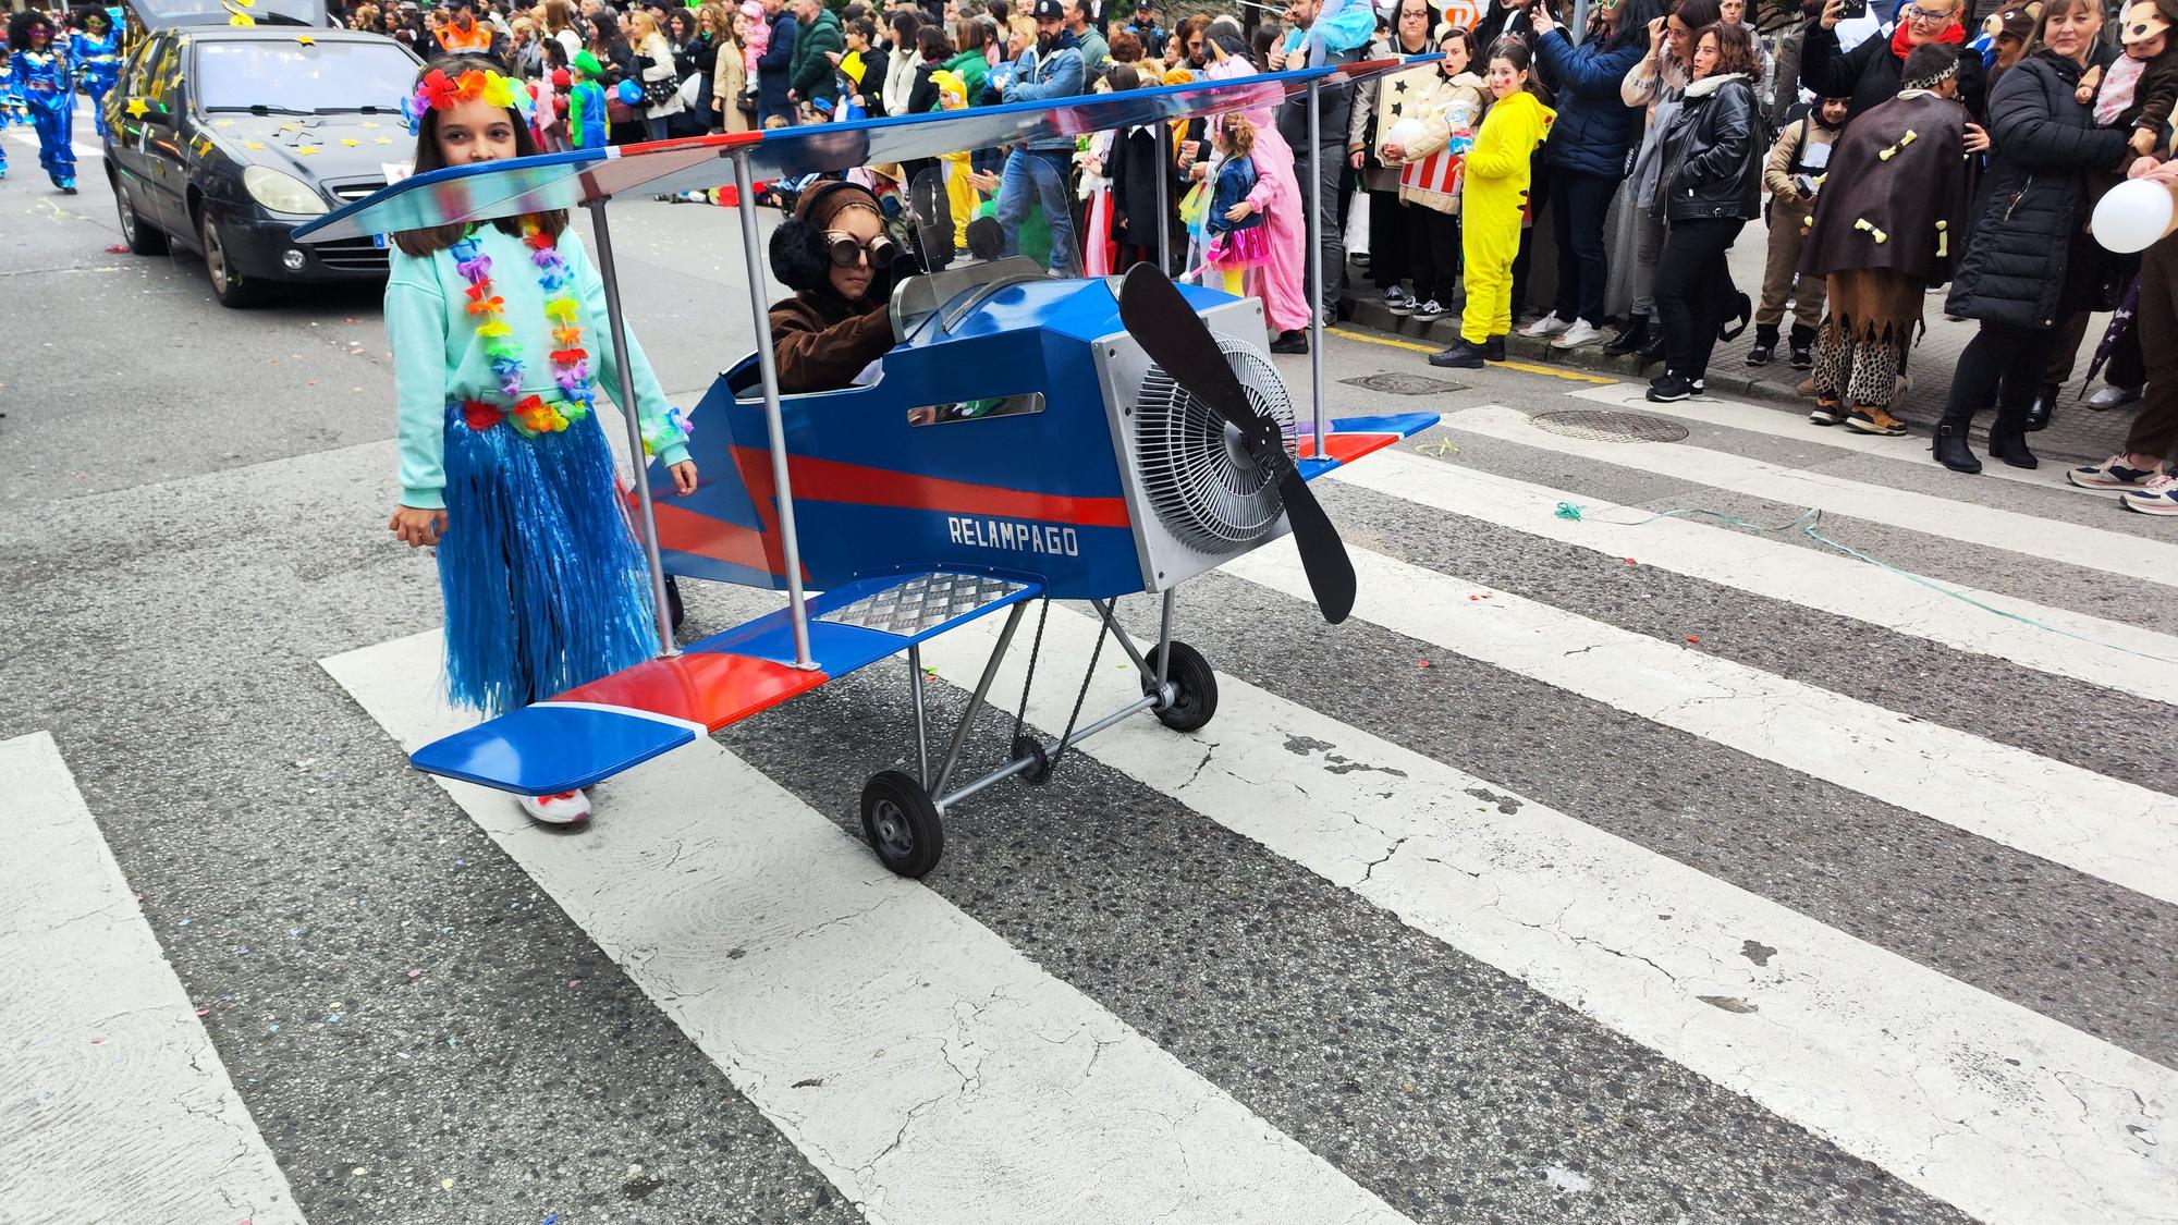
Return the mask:
<path id="1" fill-rule="evenodd" d="M 771 272 L 795 296 L 771 303 L 771 353 L 782 392 L 852 386 L 893 347 L 897 244 L 878 196 L 860 183 L 810 185 L 795 216 L 771 231 Z"/>

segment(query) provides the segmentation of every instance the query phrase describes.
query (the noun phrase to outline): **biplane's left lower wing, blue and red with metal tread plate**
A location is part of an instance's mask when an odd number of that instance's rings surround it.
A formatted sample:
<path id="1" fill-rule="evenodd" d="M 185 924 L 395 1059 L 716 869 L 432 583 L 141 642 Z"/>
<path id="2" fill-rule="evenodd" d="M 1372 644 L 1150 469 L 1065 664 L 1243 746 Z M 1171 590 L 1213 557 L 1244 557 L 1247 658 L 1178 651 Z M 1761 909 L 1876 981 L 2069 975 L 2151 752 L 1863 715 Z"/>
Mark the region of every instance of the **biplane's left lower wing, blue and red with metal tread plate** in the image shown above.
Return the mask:
<path id="1" fill-rule="evenodd" d="M 797 669 L 786 608 L 590 684 L 510 711 L 409 754 L 416 769 L 518 796 L 590 787 L 738 724 L 858 667 L 1043 589 L 987 573 L 923 571 L 852 582 L 810 599 Z"/>

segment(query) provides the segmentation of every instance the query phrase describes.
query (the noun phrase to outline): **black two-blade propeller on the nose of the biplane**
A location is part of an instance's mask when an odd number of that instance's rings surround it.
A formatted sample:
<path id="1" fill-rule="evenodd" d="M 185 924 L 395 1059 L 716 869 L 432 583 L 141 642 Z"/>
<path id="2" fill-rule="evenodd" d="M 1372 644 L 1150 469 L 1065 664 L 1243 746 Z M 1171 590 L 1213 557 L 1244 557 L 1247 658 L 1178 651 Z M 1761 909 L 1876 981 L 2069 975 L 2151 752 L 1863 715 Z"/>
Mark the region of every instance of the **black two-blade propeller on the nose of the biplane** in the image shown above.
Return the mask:
<path id="1" fill-rule="evenodd" d="M 1209 325 L 1187 305 L 1170 277 L 1150 264 L 1135 264 L 1119 283 L 1119 323 L 1128 336 L 1141 344 L 1152 362 L 1202 405 L 1239 429 L 1241 447 L 1248 456 L 1278 482 L 1278 499 L 1285 504 L 1285 519 L 1294 527 L 1294 545 L 1300 549 L 1300 569 L 1309 575 L 1309 591 L 1316 595 L 1324 621 L 1337 626 L 1355 608 L 1355 567 L 1346 556 L 1331 517 L 1316 504 L 1316 493 L 1302 480 L 1294 458 L 1285 453 L 1285 434 L 1278 421 L 1265 416 L 1248 403 L 1226 355 L 1218 349 Z"/>

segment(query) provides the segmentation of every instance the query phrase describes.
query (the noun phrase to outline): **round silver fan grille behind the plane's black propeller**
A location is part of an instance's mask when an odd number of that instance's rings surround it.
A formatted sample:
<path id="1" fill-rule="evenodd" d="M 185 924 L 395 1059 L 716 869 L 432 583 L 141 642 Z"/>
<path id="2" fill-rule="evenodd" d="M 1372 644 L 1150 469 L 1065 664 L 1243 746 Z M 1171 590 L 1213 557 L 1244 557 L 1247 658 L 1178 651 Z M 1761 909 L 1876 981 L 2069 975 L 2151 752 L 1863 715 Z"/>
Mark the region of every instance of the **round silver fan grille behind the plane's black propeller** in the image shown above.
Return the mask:
<path id="1" fill-rule="evenodd" d="M 1276 366 L 1237 336 L 1211 333 L 1239 375 L 1248 405 L 1278 423 L 1294 451 L 1294 401 Z M 1143 493 L 1167 532 L 1207 554 L 1259 541 L 1285 506 L 1276 482 L 1239 447 L 1226 423 L 1163 366 L 1152 364 L 1135 399 L 1135 462 Z"/>

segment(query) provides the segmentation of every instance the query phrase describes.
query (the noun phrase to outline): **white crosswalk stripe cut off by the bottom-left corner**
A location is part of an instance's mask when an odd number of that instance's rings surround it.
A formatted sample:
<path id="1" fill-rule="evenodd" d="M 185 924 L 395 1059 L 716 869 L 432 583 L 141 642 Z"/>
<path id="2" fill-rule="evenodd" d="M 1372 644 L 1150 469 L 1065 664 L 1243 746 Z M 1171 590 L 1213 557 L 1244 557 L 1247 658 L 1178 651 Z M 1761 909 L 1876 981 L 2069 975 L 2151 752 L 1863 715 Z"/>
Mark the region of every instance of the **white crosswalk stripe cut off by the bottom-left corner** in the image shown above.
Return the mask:
<path id="1" fill-rule="evenodd" d="M 52 737 L 0 778 L 0 1221 L 303 1221 Z"/>

